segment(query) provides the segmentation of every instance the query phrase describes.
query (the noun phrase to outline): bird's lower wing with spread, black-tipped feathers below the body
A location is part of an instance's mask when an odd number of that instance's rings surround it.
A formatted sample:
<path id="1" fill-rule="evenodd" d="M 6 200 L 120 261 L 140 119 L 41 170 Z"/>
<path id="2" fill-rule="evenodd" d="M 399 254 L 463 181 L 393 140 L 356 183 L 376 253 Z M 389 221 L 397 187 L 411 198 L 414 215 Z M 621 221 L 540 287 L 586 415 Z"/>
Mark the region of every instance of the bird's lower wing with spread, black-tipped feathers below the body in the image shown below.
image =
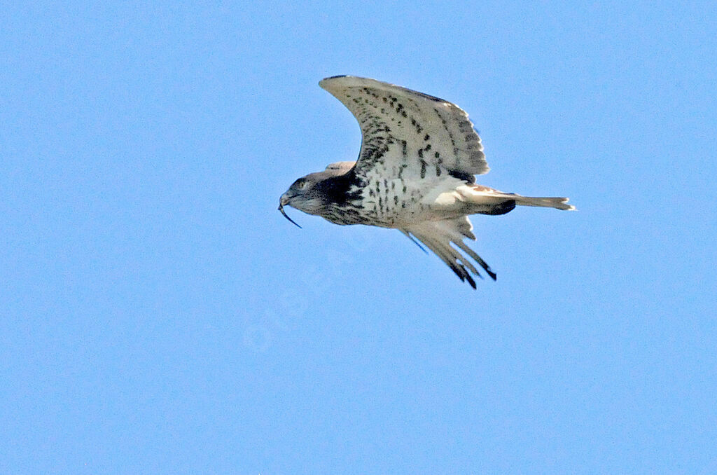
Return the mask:
<path id="1" fill-rule="evenodd" d="M 480 255 L 463 243 L 465 237 L 475 240 L 472 230 L 473 225 L 470 224 L 468 217 L 464 216 L 454 220 L 420 222 L 402 229 L 401 232 L 407 235 L 409 239 L 414 240 L 414 242 L 419 240 L 426 245 L 455 272 L 461 281 L 468 281 L 470 286 L 475 288 L 475 281 L 470 274 L 473 273 L 473 275 L 481 278 L 482 276 L 480 276 L 475 265 L 470 262 L 470 259 L 458 252 L 458 249 L 473 258 L 494 281 L 495 272 L 490 270 L 490 267 L 485 263 L 485 260 L 480 258 Z M 456 245 L 458 249 L 451 244 Z"/>

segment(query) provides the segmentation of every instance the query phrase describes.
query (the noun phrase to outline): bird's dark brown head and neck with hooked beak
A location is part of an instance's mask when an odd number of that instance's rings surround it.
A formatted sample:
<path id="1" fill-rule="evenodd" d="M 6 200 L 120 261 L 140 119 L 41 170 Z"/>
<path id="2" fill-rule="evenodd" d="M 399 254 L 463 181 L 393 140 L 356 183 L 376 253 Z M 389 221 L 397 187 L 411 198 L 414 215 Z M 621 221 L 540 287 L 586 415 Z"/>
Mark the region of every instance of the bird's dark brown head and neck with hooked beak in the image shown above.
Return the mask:
<path id="1" fill-rule="evenodd" d="M 328 207 L 336 204 L 337 195 L 348 191 L 348 183 L 334 183 L 336 182 L 336 177 L 346 175 L 353 167 L 353 164 L 355 164 L 353 161 L 340 161 L 327 166 L 324 171 L 310 173 L 296 180 L 291 184 L 289 189 L 281 195 L 279 199 L 279 211 L 289 220 L 290 218 L 283 210 L 286 205 L 303 211 L 308 215 L 325 215 L 325 211 Z M 294 222 L 294 224 L 296 223 Z"/>

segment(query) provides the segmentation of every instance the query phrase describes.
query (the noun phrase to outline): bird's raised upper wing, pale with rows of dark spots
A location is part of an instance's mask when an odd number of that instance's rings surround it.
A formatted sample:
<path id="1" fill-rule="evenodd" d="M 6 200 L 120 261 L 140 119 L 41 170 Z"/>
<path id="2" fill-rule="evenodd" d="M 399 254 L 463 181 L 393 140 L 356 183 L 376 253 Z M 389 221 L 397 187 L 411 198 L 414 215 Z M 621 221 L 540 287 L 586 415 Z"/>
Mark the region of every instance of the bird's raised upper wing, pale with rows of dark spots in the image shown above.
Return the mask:
<path id="1" fill-rule="evenodd" d="M 405 168 L 420 170 L 421 177 L 427 168 L 443 169 L 470 182 L 488 173 L 480 137 L 457 105 L 364 77 L 327 77 L 319 85 L 359 121 L 359 177 L 379 165 L 385 178 L 401 177 Z"/>

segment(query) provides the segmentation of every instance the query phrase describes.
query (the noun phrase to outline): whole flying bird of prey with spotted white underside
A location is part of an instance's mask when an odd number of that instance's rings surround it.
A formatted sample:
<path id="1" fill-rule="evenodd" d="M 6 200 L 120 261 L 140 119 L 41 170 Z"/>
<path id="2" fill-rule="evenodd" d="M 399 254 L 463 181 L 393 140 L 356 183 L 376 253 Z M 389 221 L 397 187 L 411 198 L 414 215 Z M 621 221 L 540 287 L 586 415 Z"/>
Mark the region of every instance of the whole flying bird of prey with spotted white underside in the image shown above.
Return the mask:
<path id="1" fill-rule="evenodd" d="M 395 228 L 475 288 L 471 274 L 482 276 L 470 258 L 493 280 L 495 273 L 463 242 L 475 240 L 468 215 L 504 215 L 516 205 L 575 209 L 567 198 L 477 184 L 474 175 L 489 170 L 483 145 L 467 114 L 447 100 L 364 77 L 327 77 L 319 85 L 359 121 L 361 151 L 356 161 L 296 180 L 279 201 L 290 221 L 286 205 L 338 225 Z"/>

